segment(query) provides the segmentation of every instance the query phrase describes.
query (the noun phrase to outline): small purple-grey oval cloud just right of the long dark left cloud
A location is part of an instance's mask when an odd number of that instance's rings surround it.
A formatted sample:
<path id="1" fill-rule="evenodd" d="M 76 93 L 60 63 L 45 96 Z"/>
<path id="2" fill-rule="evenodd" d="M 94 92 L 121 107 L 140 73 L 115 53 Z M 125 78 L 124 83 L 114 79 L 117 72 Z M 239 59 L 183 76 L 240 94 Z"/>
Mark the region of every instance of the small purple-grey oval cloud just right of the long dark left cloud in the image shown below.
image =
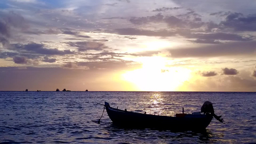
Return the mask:
<path id="1" fill-rule="evenodd" d="M 103 50 L 108 48 L 103 43 L 92 41 L 66 42 L 71 47 L 77 47 L 78 51 Z"/>

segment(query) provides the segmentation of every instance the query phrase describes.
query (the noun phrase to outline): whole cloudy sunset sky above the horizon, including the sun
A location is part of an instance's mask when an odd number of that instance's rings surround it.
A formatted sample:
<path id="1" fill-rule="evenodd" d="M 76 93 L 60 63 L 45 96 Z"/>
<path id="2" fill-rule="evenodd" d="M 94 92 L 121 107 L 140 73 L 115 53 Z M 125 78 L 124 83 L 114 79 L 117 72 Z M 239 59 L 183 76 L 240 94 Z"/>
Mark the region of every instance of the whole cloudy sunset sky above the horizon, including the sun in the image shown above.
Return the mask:
<path id="1" fill-rule="evenodd" d="M 0 91 L 256 91 L 256 0 L 0 0 Z"/>

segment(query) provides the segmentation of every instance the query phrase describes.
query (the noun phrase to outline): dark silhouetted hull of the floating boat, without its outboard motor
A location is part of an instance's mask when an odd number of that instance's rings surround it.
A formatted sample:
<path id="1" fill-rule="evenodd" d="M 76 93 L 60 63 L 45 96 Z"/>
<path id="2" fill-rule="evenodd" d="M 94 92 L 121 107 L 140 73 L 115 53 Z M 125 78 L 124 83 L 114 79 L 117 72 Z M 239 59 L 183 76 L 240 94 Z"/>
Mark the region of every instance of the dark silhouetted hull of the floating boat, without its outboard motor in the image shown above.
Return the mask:
<path id="1" fill-rule="evenodd" d="M 136 113 L 110 107 L 105 102 L 107 113 L 113 124 L 122 128 L 153 128 L 161 130 L 205 130 L 213 116 L 211 114 L 176 114 L 176 117 Z"/>

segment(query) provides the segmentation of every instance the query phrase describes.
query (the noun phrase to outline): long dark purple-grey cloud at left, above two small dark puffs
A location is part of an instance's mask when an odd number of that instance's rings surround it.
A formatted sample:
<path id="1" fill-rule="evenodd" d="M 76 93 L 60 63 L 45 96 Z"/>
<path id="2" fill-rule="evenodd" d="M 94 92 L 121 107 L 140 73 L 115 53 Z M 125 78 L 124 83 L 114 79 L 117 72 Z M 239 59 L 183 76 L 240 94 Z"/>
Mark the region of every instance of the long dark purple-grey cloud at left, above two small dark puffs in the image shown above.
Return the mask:
<path id="1" fill-rule="evenodd" d="M 44 48 L 44 44 L 37 43 L 29 43 L 29 44 L 12 44 L 8 49 L 17 50 L 21 53 L 35 53 L 35 54 L 43 54 L 43 55 L 66 55 L 73 54 L 74 52 L 71 50 L 58 50 L 57 48 Z"/>

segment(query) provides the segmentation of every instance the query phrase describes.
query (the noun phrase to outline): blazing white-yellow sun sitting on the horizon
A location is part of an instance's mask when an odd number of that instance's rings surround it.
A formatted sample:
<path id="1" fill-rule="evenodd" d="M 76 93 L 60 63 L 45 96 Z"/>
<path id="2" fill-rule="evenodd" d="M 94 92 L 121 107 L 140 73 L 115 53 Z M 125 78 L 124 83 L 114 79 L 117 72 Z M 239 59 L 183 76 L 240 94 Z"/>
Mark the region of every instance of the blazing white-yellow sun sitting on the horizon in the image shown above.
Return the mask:
<path id="1" fill-rule="evenodd" d="M 190 77 L 190 70 L 166 67 L 165 58 L 144 57 L 143 67 L 122 74 L 124 80 L 136 85 L 140 91 L 176 91 Z"/>

